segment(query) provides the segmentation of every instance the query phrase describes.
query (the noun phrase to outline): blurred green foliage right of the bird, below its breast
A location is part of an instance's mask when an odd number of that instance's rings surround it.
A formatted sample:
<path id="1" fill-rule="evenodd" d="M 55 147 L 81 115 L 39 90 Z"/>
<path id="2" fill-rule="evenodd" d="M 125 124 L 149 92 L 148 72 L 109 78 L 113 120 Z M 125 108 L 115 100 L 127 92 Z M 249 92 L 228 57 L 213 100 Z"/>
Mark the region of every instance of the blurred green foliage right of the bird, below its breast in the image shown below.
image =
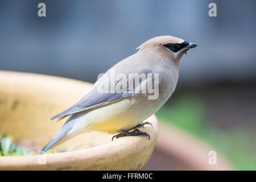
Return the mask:
<path id="1" fill-rule="evenodd" d="M 174 123 L 211 144 L 238 170 L 256 169 L 256 134 L 250 129 L 235 127 L 221 130 L 205 119 L 204 101 L 194 94 L 183 94 L 157 113 L 159 121 Z"/>

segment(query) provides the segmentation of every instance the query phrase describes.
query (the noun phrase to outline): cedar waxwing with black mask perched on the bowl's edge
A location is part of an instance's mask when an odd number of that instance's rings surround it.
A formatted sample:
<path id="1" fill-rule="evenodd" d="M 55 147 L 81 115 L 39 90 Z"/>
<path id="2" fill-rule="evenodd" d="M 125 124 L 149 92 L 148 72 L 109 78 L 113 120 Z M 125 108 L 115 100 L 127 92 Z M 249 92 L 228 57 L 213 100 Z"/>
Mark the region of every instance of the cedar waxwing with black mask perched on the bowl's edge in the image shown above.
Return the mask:
<path id="1" fill-rule="evenodd" d="M 143 43 L 138 52 L 101 76 L 79 101 L 52 118 L 70 115 L 40 154 L 93 130 L 119 133 L 115 138 L 140 135 L 150 139 L 137 128 L 171 97 L 179 77 L 180 58 L 196 46 L 173 36 L 158 36 Z"/>

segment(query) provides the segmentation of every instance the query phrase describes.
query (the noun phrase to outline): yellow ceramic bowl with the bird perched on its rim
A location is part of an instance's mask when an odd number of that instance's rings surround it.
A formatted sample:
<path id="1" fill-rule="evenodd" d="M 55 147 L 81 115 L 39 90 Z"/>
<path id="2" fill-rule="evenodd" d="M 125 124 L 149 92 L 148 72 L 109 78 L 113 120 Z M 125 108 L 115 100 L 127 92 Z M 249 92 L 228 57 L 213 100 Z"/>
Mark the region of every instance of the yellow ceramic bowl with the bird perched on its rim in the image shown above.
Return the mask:
<path id="1" fill-rule="evenodd" d="M 75 103 L 92 86 L 87 82 L 34 73 L 0 71 L 0 132 L 14 140 L 43 147 L 66 119 L 50 118 Z M 34 156 L 0 156 L 1 170 L 136 170 L 150 158 L 158 135 L 158 121 L 142 131 L 146 137 L 123 137 L 92 132 L 56 147 L 75 151 Z"/>

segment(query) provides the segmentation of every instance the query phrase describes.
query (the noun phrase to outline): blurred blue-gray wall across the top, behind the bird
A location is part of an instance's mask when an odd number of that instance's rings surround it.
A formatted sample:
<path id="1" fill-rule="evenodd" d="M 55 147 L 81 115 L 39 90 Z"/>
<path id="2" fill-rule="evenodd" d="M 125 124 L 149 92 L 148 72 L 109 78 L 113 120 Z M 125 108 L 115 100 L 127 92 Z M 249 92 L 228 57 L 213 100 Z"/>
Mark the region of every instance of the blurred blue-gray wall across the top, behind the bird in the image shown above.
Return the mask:
<path id="1" fill-rule="evenodd" d="M 4 0 L 0 69 L 94 82 L 146 40 L 173 35 L 199 45 L 181 59 L 181 85 L 256 80 L 255 10 L 256 1 Z"/>

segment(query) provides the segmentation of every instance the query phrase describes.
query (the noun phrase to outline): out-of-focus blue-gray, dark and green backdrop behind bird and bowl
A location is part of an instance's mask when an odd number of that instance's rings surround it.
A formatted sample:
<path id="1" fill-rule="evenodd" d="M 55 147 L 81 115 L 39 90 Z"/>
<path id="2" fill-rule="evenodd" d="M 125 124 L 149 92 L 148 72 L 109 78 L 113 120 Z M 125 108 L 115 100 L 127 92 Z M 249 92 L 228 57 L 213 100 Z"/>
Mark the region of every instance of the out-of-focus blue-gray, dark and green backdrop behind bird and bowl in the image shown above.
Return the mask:
<path id="1" fill-rule="evenodd" d="M 40 2 L 46 17 L 38 16 Z M 211 2 L 217 17 L 208 15 Z M 255 17 L 254 0 L 4 0 L 0 69 L 95 82 L 150 38 L 194 42 L 175 93 L 156 115 L 220 151 L 234 169 L 256 169 Z M 156 148 L 145 169 L 175 169 L 154 165 L 166 161 L 159 155 Z"/>

